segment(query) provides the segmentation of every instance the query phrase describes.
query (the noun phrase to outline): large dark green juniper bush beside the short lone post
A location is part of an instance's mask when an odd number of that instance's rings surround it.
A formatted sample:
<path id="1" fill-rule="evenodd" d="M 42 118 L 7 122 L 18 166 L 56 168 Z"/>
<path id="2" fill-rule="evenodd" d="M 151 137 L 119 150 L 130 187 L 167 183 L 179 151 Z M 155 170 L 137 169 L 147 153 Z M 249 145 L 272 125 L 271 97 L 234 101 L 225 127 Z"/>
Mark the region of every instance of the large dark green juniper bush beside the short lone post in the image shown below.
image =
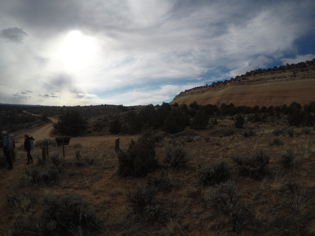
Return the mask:
<path id="1" fill-rule="evenodd" d="M 126 152 L 118 153 L 118 174 L 140 177 L 154 171 L 158 166 L 154 148 L 155 140 L 148 130 L 136 142 L 131 140 Z"/>

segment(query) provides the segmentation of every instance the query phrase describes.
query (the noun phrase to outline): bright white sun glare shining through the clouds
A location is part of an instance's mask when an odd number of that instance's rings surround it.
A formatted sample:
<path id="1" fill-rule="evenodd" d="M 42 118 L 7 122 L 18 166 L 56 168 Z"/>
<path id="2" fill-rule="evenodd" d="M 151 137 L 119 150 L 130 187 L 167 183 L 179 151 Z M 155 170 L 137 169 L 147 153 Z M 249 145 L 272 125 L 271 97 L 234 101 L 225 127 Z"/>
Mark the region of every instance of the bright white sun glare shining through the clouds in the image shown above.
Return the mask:
<path id="1" fill-rule="evenodd" d="M 59 57 L 64 63 L 81 66 L 92 58 L 93 53 L 93 39 L 82 35 L 80 31 L 72 31 L 60 48 Z"/>

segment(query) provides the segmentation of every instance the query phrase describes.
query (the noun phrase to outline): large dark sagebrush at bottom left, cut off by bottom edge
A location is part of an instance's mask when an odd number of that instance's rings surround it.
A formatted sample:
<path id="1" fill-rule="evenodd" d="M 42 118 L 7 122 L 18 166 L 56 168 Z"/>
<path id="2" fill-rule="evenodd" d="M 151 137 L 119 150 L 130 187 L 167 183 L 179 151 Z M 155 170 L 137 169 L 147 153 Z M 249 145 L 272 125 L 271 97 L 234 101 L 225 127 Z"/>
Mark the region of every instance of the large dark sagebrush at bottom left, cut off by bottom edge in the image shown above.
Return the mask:
<path id="1" fill-rule="evenodd" d="M 95 232 L 102 222 L 80 194 L 46 195 L 41 200 L 38 226 L 44 235 L 70 235 Z"/>

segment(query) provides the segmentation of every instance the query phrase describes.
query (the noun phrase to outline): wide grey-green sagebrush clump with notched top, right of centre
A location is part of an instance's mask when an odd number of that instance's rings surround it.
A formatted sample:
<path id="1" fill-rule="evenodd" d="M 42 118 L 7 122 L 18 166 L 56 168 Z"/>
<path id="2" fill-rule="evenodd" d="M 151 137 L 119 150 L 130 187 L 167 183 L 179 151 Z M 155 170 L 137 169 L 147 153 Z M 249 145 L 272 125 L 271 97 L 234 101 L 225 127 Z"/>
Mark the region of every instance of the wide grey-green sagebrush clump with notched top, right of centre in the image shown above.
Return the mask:
<path id="1" fill-rule="evenodd" d="M 251 158 L 240 154 L 232 155 L 231 159 L 237 165 L 243 176 L 260 177 L 269 163 L 270 156 L 265 149 L 255 151 Z"/>

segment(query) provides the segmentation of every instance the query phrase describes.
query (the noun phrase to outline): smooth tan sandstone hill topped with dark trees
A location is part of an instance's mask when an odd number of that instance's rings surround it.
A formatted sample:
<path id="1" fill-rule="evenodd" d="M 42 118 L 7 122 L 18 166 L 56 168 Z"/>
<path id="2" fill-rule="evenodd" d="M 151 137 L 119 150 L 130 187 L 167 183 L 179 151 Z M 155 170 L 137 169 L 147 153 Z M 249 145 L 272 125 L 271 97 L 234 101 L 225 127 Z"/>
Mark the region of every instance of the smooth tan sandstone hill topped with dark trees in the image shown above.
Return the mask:
<path id="1" fill-rule="evenodd" d="M 175 96 L 170 104 L 200 105 L 233 103 L 235 106 L 278 106 L 293 101 L 302 106 L 315 101 L 315 59 L 287 64 L 267 70 L 258 69 L 218 81 L 212 85 L 195 87 Z M 297 67 L 297 68 L 296 68 Z M 292 69 L 294 68 L 294 69 Z"/>

